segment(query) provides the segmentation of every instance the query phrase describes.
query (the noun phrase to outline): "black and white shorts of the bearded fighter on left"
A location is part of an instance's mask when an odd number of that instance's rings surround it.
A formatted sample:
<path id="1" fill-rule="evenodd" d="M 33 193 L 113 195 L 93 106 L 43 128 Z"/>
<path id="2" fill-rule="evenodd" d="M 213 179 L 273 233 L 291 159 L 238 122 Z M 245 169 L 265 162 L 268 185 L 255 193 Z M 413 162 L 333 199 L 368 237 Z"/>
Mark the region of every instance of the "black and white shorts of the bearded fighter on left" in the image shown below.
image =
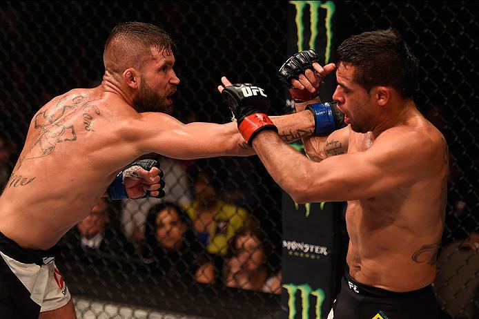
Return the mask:
<path id="1" fill-rule="evenodd" d="M 23 249 L 0 232 L 0 318 L 38 319 L 70 301 L 49 251 Z"/>

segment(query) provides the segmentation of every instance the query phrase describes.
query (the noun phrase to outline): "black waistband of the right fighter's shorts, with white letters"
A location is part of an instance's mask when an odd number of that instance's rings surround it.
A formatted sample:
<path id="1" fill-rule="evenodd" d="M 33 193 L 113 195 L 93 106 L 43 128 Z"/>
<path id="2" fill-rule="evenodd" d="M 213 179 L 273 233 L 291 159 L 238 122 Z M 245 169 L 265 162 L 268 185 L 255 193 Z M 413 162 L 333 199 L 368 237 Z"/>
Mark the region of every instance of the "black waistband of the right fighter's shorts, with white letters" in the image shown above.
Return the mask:
<path id="1" fill-rule="evenodd" d="M 344 278 L 346 278 L 350 290 L 354 291 L 355 293 L 360 293 L 361 295 L 373 298 L 413 298 L 414 296 L 423 295 L 424 293 L 432 293 L 432 287 L 430 284 L 421 289 L 406 292 L 395 292 L 378 287 L 368 286 L 355 281 L 351 276 L 349 276 L 349 267 L 346 267 L 346 271 L 344 271 Z"/>

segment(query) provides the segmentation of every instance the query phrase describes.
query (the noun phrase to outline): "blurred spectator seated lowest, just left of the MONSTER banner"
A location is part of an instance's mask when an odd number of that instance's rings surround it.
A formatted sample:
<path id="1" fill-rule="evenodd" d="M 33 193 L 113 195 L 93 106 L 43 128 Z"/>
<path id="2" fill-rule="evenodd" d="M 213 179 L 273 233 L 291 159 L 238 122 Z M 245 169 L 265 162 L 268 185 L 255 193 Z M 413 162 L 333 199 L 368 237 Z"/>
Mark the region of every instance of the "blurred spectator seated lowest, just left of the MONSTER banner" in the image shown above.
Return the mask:
<path id="1" fill-rule="evenodd" d="M 239 231 L 228 243 L 228 255 L 223 269 L 226 286 L 248 290 L 280 293 L 281 280 L 270 276 L 266 263 L 268 249 L 266 238 L 255 224 Z"/>

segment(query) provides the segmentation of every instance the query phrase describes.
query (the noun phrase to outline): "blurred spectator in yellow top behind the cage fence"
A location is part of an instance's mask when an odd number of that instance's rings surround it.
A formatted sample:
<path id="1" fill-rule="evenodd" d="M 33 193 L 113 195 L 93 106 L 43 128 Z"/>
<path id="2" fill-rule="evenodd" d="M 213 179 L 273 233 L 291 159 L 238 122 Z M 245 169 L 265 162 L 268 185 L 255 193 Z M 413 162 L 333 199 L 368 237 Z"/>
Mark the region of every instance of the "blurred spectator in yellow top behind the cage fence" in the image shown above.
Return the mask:
<path id="1" fill-rule="evenodd" d="M 203 168 L 197 173 L 193 184 L 195 200 L 185 206 L 193 224 L 193 231 L 214 260 L 214 273 L 219 273 L 223 267 L 228 241 L 248 220 L 248 212 L 220 200 L 218 190 L 219 185 L 213 178 L 213 173 Z M 211 273 L 211 270 L 206 273 Z M 209 278 L 207 281 L 214 282 L 215 278 Z"/>

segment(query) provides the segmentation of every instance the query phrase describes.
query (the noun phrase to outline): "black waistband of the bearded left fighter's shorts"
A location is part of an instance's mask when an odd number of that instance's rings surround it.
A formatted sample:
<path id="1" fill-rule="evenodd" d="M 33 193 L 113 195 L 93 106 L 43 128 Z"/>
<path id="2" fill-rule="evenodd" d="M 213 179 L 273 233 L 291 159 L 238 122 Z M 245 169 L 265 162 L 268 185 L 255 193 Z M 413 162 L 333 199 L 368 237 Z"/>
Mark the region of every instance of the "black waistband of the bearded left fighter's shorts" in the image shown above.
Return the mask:
<path id="1" fill-rule="evenodd" d="M 26 249 L 17 242 L 8 238 L 0 231 L 0 251 L 8 257 L 23 262 L 23 264 L 44 264 L 43 258 L 53 258 L 55 249 L 42 251 L 39 249 Z"/>

